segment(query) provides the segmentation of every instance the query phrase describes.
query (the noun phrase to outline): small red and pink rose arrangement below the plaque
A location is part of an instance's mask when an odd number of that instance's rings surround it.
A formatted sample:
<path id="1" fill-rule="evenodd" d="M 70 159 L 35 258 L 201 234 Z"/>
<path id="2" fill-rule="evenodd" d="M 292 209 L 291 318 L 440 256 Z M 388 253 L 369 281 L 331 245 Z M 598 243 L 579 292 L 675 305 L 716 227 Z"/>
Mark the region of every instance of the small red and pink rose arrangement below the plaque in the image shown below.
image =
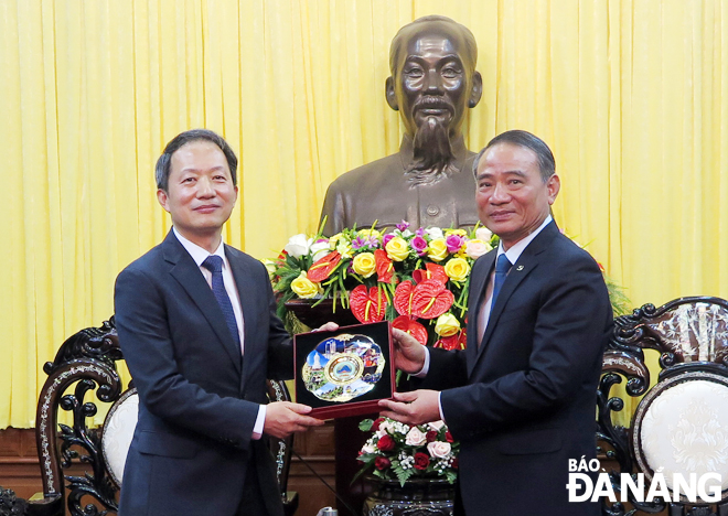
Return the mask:
<path id="1" fill-rule="evenodd" d="M 388 418 L 365 419 L 360 430 L 372 432 L 356 458 L 364 465 L 356 477 L 371 472 L 384 480 L 398 480 L 402 485 L 411 477 L 458 479 L 458 451 L 442 421 L 410 427 Z"/>

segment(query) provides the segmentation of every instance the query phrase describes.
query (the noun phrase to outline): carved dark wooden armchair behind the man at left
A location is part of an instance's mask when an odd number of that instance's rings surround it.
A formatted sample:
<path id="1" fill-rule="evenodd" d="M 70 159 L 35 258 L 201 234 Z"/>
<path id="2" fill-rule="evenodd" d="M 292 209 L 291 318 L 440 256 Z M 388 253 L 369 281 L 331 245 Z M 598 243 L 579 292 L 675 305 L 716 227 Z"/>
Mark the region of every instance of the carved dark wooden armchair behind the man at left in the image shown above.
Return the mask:
<path id="1" fill-rule="evenodd" d="M 138 405 L 136 388 L 132 385 L 122 388 L 117 372 L 117 362 L 121 359 L 111 316 L 100 327 L 88 327 L 71 336 L 54 361 L 44 365 L 49 378 L 41 390 L 35 420 L 43 498 L 25 502 L 0 488 L 1 516 L 62 516 L 64 499 L 72 516 L 117 513 L 117 495 Z M 73 391 L 66 393 L 71 387 Z M 111 405 L 101 428 L 89 428 L 88 418 L 96 415 L 97 406 L 87 396 L 94 390 L 101 402 Z M 268 396 L 276 401 L 290 400 L 282 381 L 269 380 Z M 73 427 L 57 423 L 60 408 L 73 413 Z M 271 441 L 270 445 L 286 514 L 292 515 L 298 507 L 298 495 L 286 490 L 292 437 Z M 64 475 L 74 462 L 87 465 L 84 476 Z"/>

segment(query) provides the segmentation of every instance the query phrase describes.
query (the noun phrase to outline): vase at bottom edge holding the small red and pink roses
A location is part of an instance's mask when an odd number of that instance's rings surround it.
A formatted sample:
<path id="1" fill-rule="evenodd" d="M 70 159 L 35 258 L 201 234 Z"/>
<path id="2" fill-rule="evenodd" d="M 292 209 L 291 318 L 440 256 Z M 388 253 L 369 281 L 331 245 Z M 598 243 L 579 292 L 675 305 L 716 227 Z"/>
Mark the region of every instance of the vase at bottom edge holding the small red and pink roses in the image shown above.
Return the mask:
<path id="1" fill-rule="evenodd" d="M 363 516 L 452 516 L 456 486 L 441 479 L 399 481 L 368 477 L 374 488 L 364 501 Z"/>

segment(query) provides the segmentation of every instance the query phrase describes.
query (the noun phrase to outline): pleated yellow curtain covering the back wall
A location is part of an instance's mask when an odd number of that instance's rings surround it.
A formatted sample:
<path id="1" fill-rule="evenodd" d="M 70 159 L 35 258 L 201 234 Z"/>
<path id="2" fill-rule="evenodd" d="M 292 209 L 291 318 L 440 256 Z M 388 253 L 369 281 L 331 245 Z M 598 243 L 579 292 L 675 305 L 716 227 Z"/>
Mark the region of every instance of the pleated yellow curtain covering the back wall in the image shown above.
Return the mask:
<path id="1" fill-rule="evenodd" d="M 544 138 L 559 224 L 634 305 L 728 298 L 725 0 L 0 0 L 0 428 L 33 424 L 43 363 L 113 313 L 118 271 L 163 238 L 168 140 L 227 138 L 226 240 L 274 256 L 315 229 L 335 176 L 397 149 L 389 42 L 431 13 L 478 40 L 469 147 Z"/>

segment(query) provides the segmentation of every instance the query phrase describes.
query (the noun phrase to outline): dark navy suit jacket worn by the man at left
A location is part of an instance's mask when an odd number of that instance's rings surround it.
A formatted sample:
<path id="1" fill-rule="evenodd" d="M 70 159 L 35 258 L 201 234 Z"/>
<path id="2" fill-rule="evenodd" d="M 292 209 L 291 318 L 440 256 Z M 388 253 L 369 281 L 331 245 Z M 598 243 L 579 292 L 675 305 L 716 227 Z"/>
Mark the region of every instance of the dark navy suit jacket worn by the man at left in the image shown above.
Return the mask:
<path id="1" fill-rule="evenodd" d="M 244 361 L 172 232 L 117 278 L 119 343 L 139 391 L 121 516 L 234 515 L 246 472 L 257 472 L 269 514 L 282 515 L 272 458 L 251 434 L 266 378 L 292 374 L 290 340 L 263 264 L 228 246 L 225 254 L 243 309 Z"/>

